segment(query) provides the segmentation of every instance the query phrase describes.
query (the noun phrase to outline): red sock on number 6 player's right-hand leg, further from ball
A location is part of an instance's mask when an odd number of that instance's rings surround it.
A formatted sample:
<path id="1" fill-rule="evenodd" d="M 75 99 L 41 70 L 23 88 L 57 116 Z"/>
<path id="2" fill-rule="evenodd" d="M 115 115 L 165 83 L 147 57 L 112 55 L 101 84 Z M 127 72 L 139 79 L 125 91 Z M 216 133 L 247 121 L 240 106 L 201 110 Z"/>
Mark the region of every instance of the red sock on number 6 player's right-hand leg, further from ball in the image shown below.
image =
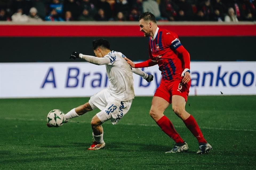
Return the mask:
<path id="1" fill-rule="evenodd" d="M 203 137 L 203 134 L 195 121 L 194 117 L 192 115 L 189 116 L 185 121 L 183 121 L 187 128 L 191 131 L 191 133 L 194 135 L 194 137 L 197 138 L 198 143 L 207 143 L 205 138 Z"/>

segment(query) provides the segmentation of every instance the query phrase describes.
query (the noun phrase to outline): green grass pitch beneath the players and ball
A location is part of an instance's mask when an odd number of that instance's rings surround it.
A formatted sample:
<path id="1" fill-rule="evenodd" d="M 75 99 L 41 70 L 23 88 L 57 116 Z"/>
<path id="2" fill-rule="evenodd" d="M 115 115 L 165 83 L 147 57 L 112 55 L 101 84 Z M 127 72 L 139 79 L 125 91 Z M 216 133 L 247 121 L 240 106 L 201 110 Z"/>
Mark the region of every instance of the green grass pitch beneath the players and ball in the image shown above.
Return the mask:
<path id="1" fill-rule="evenodd" d="M 165 154 L 170 139 L 149 116 L 152 97 L 135 97 L 116 125 L 103 124 L 105 148 L 89 151 L 91 118 L 99 111 L 48 128 L 52 109 L 68 112 L 89 98 L 0 99 L 0 169 L 256 169 L 256 96 L 190 96 L 194 116 L 213 150 L 197 155 L 196 138 L 171 106 L 165 115 L 188 143 L 187 153 Z M 190 106 L 189 106 L 190 105 Z"/>

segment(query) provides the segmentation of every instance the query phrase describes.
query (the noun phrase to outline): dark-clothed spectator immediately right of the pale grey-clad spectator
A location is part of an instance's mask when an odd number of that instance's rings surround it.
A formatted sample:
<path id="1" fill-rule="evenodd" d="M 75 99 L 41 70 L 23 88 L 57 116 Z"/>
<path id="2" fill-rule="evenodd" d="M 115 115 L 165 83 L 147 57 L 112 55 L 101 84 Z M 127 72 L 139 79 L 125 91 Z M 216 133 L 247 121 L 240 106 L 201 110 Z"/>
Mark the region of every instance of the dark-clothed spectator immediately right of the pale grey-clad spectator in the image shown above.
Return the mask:
<path id="1" fill-rule="evenodd" d="M 171 0 L 163 0 L 159 4 L 161 16 L 167 18 L 169 21 L 174 21 L 177 16 L 177 6 Z"/>

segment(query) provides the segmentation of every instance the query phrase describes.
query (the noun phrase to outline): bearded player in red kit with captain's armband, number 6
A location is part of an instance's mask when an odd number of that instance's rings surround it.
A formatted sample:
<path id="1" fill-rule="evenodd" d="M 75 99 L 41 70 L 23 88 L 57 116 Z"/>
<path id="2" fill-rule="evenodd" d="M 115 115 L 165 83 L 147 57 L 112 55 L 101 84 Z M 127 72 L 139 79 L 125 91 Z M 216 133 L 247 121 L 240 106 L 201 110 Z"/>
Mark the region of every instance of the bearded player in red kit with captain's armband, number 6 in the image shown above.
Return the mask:
<path id="1" fill-rule="evenodd" d="M 174 113 L 183 120 L 197 138 L 199 143 L 197 154 L 209 152 L 212 149 L 211 145 L 203 137 L 194 117 L 185 110 L 191 83 L 189 53 L 182 46 L 176 33 L 157 27 L 155 16 L 150 12 L 144 12 L 139 16 L 139 26 L 144 36 L 150 37 L 150 59 L 137 64 L 127 58 L 125 60 L 134 68 L 157 64 L 159 66 L 162 79 L 152 99 L 149 114 L 157 125 L 175 141 L 173 149 L 165 153 L 187 152 L 189 149 L 171 121 L 163 114 L 169 104 L 172 104 Z"/>

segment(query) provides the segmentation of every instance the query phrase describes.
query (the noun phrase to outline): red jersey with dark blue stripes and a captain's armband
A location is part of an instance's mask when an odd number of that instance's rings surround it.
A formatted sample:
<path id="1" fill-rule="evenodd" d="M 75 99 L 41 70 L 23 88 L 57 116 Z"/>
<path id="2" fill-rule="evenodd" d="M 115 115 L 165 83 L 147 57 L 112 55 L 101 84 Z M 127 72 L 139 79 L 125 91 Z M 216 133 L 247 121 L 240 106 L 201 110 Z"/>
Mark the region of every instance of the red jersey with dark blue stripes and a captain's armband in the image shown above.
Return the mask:
<path id="1" fill-rule="evenodd" d="M 157 28 L 156 32 L 153 38 L 149 38 L 150 59 L 157 62 L 163 79 L 172 80 L 181 77 L 185 68 L 190 69 L 189 54 L 183 48 L 176 33 L 161 28 Z M 180 46 L 182 46 L 181 52 L 177 51 Z M 187 53 L 186 58 L 181 55 L 183 49 Z"/>

